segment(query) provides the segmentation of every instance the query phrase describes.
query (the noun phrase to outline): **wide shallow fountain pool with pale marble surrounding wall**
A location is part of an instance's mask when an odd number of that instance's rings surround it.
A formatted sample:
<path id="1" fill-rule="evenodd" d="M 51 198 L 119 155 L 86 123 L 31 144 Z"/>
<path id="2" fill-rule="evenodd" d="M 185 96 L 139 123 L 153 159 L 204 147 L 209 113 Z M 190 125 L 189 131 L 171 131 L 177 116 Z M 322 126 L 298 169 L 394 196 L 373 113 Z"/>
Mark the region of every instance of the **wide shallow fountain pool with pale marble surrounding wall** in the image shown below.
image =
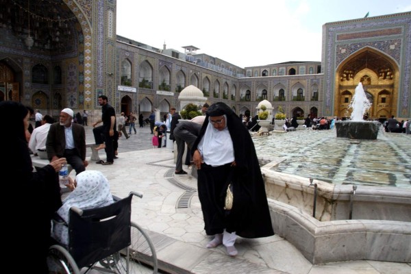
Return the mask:
<path id="1" fill-rule="evenodd" d="M 253 142 L 275 234 L 307 260 L 411 262 L 406 134 L 353 142 L 333 130 L 301 130 Z"/>

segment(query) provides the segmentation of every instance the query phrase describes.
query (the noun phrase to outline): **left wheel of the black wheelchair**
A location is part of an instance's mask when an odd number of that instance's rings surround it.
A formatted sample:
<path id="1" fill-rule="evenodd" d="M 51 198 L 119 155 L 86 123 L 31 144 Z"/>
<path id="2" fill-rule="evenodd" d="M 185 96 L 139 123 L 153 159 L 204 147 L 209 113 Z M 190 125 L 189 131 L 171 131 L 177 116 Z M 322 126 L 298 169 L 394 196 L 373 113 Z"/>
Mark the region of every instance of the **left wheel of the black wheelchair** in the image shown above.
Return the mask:
<path id="1" fill-rule="evenodd" d="M 47 265 L 50 273 L 80 274 L 75 260 L 71 257 L 69 251 L 61 245 L 52 245 L 49 248 Z"/>

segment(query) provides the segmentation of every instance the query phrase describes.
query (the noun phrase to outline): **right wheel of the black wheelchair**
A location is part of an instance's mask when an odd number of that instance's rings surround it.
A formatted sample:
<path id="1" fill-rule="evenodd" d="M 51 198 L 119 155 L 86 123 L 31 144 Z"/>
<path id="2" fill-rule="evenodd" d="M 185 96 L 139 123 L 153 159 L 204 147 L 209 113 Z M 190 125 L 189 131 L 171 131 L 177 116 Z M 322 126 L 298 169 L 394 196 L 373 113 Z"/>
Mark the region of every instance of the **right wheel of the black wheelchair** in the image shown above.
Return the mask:
<path id="1" fill-rule="evenodd" d="M 157 273 L 158 262 L 153 242 L 147 233 L 136 223 L 132 222 L 132 242 L 129 247 L 120 251 L 121 256 L 113 256 L 115 266 L 111 267 L 119 273 Z M 129 271 L 127 272 L 127 262 Z"/>

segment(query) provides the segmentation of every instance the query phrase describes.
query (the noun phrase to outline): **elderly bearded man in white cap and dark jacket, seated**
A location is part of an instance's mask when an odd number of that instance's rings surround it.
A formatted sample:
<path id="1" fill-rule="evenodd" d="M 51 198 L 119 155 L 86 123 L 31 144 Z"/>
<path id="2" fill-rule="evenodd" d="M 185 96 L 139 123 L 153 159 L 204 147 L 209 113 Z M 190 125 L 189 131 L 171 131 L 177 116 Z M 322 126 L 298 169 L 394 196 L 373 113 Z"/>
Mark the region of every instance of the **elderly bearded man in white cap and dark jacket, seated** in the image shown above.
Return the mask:
<path id="1" fill-rule="evenodd" d="M 59 122 L 50 126 L 47 134 L 47 157 L 52 162 L 66 158 L 76 175 L 86 170 L 86 132 L 83 125 L 73 123 L 74 112 L 64 108 L 60 112 Z"/>

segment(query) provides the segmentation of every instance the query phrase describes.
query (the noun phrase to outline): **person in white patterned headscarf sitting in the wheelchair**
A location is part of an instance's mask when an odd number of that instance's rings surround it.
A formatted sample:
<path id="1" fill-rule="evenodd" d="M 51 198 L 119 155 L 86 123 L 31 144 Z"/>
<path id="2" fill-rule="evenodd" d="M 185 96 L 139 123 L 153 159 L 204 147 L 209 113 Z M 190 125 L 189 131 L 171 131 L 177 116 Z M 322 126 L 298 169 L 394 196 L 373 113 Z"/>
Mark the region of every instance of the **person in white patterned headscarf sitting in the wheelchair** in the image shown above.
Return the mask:
<path id="1" fill-rule="evenodd" d="M 100 208 L 114 203 L 108 179 L 100 171 L 83 171 L 71 180 L 69 188 L 73 189 L 57 214 L 62 220 L 52 222 L 51 236 L 63 245 L 69 245 L 69 212 L 72 206 L 82 210 Z"/>

